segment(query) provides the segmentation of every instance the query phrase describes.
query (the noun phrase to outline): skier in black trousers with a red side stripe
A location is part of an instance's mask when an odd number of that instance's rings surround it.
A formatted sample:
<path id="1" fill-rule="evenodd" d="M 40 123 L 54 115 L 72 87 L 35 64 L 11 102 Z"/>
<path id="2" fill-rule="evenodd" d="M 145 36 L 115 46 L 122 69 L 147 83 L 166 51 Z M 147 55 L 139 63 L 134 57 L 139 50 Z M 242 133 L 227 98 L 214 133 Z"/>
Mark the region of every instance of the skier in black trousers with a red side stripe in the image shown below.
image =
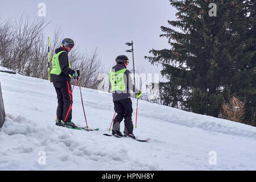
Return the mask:
<path id="1" fill-rule="evenodd" d="M 57 119 L 56 125 L 76 127 L 72 119 L 72 89 L 71 76 L 75 78 L 80 75 L 80 71 L 71 69 L 68 61 L 68 52 L 74 47 L 75 43 L 72 39 L 64 39 L 62 46 L 55 49 L 55 55 L 52 57 L 51 82 L 57 93 Z"/>

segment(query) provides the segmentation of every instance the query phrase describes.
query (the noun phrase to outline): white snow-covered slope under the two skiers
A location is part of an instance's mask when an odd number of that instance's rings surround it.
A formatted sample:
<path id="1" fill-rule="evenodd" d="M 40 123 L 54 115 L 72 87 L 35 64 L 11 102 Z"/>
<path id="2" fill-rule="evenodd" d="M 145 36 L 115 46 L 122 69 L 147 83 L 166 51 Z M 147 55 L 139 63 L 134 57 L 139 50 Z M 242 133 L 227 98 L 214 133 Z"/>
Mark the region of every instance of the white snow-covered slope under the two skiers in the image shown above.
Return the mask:
<path id="1" fill-rule="evenodd" d="M 3 72 L 0 81 L 7 114 L 0 131 L 0 170 L 256 169 L 256 127 L 139 100 L 134 135 L 150 142 L 106 137 L 114 115 L 112 94 L 82 88 L 88 125 L 100 129 L 88 132 L 55 125 L 51 82 Z M 78 86 L 72 121 L 85 126 Z"/>

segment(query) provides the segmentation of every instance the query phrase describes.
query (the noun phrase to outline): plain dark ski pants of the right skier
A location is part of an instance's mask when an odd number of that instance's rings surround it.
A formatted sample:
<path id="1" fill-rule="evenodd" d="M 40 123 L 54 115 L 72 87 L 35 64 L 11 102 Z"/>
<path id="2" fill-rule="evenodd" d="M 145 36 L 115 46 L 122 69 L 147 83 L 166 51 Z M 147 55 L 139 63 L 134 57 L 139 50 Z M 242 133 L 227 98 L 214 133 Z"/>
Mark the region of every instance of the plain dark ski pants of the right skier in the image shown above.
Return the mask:
<path id="1" fill-rule="evenodd" d="M 133 105 L 130 98 L 114 101 L 114 110 L 117 115 L 113 121 L 113 130 L 120 131 L 120 123 L 125 118 L 125 133 L 133 133 L 133 121 L 131 115 L 133 114 Z"/>

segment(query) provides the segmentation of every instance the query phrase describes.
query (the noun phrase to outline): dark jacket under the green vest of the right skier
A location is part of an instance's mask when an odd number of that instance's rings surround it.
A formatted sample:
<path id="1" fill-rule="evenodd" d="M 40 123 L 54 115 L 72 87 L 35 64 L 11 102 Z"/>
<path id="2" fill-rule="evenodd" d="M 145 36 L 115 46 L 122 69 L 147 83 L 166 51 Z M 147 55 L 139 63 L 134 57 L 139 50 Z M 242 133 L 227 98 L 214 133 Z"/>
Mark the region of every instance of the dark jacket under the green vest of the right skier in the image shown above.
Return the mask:
<path id="1" fill-rule="evenodd" d="M 117 71 L 120 71 L 121 69 L 125 69 L 125 68 L 126 67 L 123 64 L 117 64 L 112 68 L 112 71 L 117 72 Z M 126 84 L 126 90 L 119 91 L 119 92 L 116 92 L 116 91 L 112 92 L 113 101 L 119 101 L 119 100 L 123 100 L 125 98 L 130 98 L 131 91 L 135 92 L 135 93 L 139 93 L 139 90 L 137 88 L 135 88 L 135 85 L 133 84 L 133 79 L 131 78 L 130 73 L 131 72 L 128 69 L 125 71 L 124 81 Z M 110 84 L 110 86 L 111 86 L 111 84 Z"/>

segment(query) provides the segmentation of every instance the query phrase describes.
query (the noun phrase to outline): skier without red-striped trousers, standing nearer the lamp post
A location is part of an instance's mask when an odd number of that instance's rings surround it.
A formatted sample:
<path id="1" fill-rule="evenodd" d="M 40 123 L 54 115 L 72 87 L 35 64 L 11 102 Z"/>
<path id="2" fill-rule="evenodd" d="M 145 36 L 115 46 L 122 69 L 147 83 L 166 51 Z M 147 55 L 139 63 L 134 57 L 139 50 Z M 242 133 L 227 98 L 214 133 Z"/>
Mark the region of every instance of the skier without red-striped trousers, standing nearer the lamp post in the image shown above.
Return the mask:
<path id="1" fill-rule="evenodd" d="M 123 137 L 120 132 L 120 123 L 125 118 L 125 137 L 135 138 L 133 134 L 133 121 L 131 121 L 131 114 L 133 113 L 133 105 L 131 103 L 130 91 L 137 94 L 137 98 L 141 97 L 141 90 L 135 88 L 130 71 L 126 69 L 129 64 L 127 56 L 117 56 L 115 59 L 117 63 L 112 71 L 109 72 L 110 88 L 113 96 L 114 110 L 117 115 L 113 121 L 112 134 L 114 136 Z"/>

